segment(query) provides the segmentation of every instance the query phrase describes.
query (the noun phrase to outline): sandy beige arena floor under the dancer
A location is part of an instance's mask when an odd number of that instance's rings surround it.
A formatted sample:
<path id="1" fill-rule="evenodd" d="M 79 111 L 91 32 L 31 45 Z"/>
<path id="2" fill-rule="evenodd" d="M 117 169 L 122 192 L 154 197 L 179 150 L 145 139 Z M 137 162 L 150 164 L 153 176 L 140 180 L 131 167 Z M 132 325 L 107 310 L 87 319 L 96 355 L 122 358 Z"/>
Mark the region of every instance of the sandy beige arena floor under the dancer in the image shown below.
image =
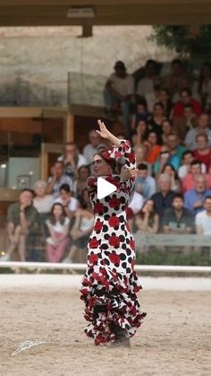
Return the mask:
<path id="1" fill-rule="evenodd" d="M 24 275 L 22 275 L 24 278 Z M 131 348 L 85 337 L 76 288 L 8 288 L 0 293 L 0 374 L 136 376 L 211 374 L 211 293 L 143 290 L 148 311 Z M 13 355 L 21 342 L 45 340 Z"/>

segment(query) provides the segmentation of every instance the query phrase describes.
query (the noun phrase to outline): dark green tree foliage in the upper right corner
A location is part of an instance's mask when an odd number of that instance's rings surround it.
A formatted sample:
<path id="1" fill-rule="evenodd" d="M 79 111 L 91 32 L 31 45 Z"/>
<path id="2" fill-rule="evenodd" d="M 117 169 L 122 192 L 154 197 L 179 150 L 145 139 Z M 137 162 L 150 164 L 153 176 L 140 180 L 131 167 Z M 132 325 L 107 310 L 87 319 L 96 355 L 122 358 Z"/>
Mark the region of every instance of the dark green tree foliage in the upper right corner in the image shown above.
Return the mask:
<path id="1" fill-rule="evenodd" d="M 189 26 L 154 26 L 153 39 L 158 45 L 164 45 L 181 54 L 191 56 L 211 55 L 211 25 L 201 26 L 198 34 L 190 34 Z"/>

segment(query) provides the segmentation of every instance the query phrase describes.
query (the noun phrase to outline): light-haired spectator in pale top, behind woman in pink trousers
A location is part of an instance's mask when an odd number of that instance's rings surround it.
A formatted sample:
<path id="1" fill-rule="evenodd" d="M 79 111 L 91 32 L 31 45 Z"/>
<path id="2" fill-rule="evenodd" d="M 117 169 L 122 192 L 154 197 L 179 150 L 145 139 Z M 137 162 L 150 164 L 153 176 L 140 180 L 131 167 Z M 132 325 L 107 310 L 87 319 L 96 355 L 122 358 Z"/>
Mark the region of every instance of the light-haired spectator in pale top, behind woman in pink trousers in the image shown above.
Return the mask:
<path id="1" fill-rule="evenodd" d="M 50 213 L 51 207 L 54 204 L 54 198 L 46 194 L 46 181 L 36 181 L 34 191 L 35 197 L 33 199 L 33 205 L 38 210 L 39 220 L 44 223 L 47 214 Z"/>

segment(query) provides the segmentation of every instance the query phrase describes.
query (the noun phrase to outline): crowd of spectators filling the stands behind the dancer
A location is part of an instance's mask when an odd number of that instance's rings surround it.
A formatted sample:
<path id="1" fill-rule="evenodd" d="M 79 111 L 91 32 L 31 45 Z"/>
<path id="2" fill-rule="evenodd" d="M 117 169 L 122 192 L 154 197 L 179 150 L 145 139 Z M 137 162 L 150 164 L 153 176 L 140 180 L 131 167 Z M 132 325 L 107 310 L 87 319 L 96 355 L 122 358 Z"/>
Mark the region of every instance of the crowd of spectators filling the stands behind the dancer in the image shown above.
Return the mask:
<path id="1" fill-rule="evenodd" d="M 118 136 L 130 139 L 137 157 L 128 220 L 136 234 L 211 235 L 211 66 L 201 66 L 198 82 L 180 59 L 171 69 L 157 74 L 156 61 L 148 60 L 135 84 L 117 61 L 105 84 L 106 110 L 122 116 Z M 47 181 L 21 192 L 19 203 L 8 210 L 9 249 L 2 259 L 16 249 L 22 261 L 32 260 L 29 234 L 40 232 L 46 261 L 86 260 L 94 223 L 86 180 L 94 153 L 105 146 L 90 130 L 81 153 L 76 144 L 65 144 Z M 36 241 L 32 246 L 36 249 Z"/>

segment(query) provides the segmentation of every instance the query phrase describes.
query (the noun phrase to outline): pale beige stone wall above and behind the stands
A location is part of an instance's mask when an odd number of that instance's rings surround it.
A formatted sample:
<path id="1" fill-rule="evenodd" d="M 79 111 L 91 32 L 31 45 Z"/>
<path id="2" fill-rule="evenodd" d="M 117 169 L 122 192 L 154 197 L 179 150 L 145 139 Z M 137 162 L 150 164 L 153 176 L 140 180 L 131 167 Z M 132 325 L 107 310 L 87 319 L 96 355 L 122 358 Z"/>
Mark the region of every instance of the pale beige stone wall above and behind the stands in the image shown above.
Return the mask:
<path id="1" fill-rule="evenodd" d="M 87 39 L 80 33 L 79 27 L 0 29 L 0 105 L 65 105 L 67 97 L 97 104 L 115 60 L 133 72 L 149 57 L 173 57 L 148 40 L 150 26 L 95 27 Z"/>

